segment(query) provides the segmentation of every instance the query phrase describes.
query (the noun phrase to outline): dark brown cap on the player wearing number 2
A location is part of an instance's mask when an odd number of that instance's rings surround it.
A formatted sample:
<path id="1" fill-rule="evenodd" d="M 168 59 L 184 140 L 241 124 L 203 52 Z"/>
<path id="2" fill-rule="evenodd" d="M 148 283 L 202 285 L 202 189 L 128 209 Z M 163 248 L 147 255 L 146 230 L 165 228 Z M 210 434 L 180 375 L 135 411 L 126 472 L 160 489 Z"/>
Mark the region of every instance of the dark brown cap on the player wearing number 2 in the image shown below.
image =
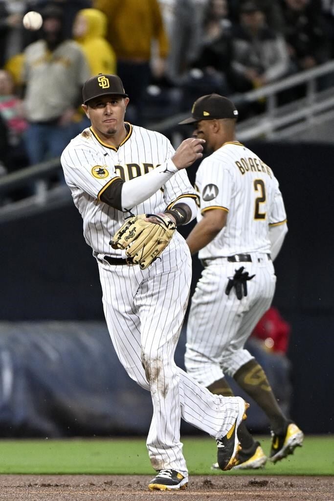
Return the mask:
<path id="1" fill-rule="evenodd" d="M 192 107 L 191 117 L 182 120 L 179 124 L 190 124 L 200 120 L 214 118 L 237 118 L 238 111 L 232 101 L 219 94 L 208 94 L 198 98 Z"/>

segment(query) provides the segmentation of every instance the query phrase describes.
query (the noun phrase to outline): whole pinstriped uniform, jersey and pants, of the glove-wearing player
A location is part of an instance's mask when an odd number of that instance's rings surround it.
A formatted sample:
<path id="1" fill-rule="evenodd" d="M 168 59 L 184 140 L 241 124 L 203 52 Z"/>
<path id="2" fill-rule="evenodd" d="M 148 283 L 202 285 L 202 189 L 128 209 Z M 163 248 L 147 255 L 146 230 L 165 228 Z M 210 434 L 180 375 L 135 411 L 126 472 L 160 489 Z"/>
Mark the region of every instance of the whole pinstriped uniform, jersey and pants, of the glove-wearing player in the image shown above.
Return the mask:
<path id="1" fill-rule="evenodd" d="M 130 377 L 151 392 L 153 413 L 146 443 L 152 466 L 186 476 L 181 417 L 219 438 L 243 414 L 244 402 L 213 395 L 175 365 L 191 283 L 191 257 L 183 236 L 175 231 L 159 259 L 144 270 L 105 259 L 106 254 L 124 257 L 109 241 L 130 210 L 122 212 L 103 203 L 101 193 L 114 179 L 128 181 L 145 174 L 174 154 L 165 136 L 127 127 L 119 148 L 103 144 L 92 128 L 85 129 L 65 148 L 61 161 L 84 219 L 86 241 L 97 258 L 103 310 L 115 351 Z M 184 196 L 197 198 L 186 171 L 181 170 L 153 196 L 129 209 L 134 214 L 161 212 Z"/>

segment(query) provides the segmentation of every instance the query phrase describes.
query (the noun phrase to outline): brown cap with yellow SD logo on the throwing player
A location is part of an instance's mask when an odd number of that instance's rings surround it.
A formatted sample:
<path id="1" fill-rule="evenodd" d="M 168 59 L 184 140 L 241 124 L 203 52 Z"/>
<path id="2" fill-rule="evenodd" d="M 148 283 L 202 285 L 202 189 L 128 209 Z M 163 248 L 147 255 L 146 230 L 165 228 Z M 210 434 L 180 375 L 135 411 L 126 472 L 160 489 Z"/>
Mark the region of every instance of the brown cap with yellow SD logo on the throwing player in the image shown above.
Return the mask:
<path id="1" fill-rule="evenodd" d="M 116 96 L 128 97 L 125 94 L 122 80 L 117 75 L 104 75 L 99 73 L 89 78 L 82 89 L 84 104 L 96 97 L 115 94 Z"/>

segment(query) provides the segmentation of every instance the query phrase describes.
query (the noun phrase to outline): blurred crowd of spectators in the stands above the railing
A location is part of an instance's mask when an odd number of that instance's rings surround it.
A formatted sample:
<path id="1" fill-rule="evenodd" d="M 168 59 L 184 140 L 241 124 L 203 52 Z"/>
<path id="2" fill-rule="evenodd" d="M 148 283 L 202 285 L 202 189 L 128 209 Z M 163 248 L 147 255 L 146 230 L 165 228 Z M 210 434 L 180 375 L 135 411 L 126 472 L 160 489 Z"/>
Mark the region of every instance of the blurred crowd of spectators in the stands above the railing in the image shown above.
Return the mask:
<path id="1" fill-rule="evenodd" d="M 0 174 L 60 156 L 89 125 L 91 75 L 118 74 L 127 119 L 147 126 L 334 59 L 333 36 L 334 0 L 0 0 Z"/>

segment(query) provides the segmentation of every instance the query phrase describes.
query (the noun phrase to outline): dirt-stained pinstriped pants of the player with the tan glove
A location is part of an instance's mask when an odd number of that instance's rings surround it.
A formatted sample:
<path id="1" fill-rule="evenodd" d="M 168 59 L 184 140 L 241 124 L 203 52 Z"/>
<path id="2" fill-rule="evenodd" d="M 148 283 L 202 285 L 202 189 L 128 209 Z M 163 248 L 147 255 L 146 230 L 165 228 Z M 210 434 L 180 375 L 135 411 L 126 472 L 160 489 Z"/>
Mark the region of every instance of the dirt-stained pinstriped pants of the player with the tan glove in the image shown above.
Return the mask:
<path id="1" fill-rule="evenodd" d="M 189 249 L 179 233 L 174 233 L 161 258 L 146 270 L 98 265 L 105 317 L 118 358 L 129 376 L 151 392 L 147 448 L 152 466 L 186 475 L 181 417 L 219 438 L 234 423 L 238 403 L 233 397 L 212 395 L 175 365 L 191 281 Z"/>

